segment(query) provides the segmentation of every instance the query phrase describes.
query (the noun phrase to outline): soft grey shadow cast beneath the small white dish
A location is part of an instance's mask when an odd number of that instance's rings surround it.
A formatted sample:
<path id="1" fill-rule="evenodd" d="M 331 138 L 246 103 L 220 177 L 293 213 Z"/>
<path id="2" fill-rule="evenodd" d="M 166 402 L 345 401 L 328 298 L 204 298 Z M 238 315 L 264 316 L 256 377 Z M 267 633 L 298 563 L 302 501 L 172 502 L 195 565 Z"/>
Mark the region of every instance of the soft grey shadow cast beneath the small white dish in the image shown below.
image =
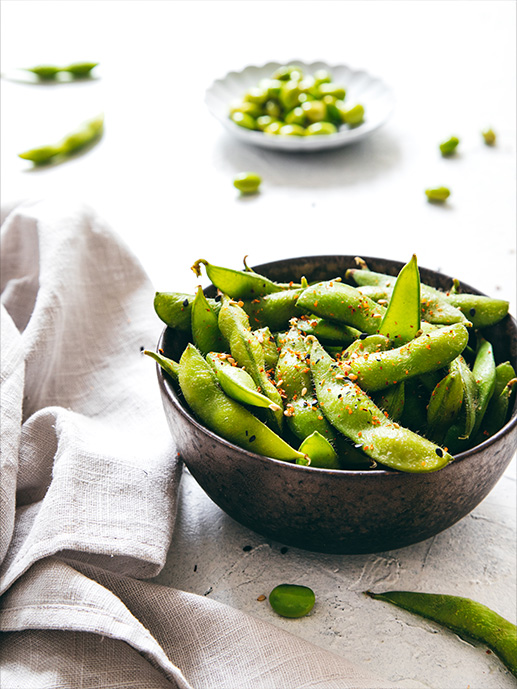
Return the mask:
<path id="1" fill-rule="evenodd" d="M 395 137 L 382 131 L 342 148 L 306 153 L 273 151 L 223 136 L 215 155 L 231 174 L 253 170 L 268 185 L 314 189 L 368 182 L 396 167 L 402 154 Z"/>

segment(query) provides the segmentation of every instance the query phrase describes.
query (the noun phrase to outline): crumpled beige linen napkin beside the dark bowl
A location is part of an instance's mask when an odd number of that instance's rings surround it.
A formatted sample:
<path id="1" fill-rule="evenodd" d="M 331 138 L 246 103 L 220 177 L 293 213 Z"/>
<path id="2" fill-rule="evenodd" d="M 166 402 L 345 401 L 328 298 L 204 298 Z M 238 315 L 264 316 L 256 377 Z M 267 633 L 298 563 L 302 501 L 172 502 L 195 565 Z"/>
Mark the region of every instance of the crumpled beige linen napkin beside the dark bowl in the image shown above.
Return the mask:
<path id="1" fill-rule="evenodd" d="M 346 660 L 157 586 L 180 463 L 142 267 L 88 208 L 1 228 L 0 686 L 382 689 Z"/>

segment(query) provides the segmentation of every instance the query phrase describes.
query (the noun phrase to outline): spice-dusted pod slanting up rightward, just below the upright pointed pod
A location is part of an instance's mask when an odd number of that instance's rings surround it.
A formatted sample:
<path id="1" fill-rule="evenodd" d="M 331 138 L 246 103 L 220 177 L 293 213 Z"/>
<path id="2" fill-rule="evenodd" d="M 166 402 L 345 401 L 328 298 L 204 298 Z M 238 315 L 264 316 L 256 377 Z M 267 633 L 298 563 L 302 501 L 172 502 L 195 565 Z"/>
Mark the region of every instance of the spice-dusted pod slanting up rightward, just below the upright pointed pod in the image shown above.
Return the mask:
<path id="1" fill-rule="evenodd" d="M 383 390 L 429 371 L 443 368 L 464 350 L 467 329 L 461 323 L 436 328 L 401 347 L 351 357 L 342 362 L 343 371 L 368 391 Z"/>

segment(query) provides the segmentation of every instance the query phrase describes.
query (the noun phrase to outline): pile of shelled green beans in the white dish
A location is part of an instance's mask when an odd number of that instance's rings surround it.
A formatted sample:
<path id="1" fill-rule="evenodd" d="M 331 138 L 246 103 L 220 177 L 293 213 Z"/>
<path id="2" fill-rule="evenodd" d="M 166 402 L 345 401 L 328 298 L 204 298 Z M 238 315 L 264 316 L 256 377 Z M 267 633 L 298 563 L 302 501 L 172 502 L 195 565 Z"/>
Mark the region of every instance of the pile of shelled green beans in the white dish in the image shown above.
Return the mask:
<path id="1" fill-rule="evenodd" d="M 339 127 L 356 127 L 364 120 L 364 106 L 349 107 L 345 97 L 345 87 L 335 84 L 328 70 L 306 75 L 301 67 L 286 65 L 233 103 L 229 116 L 239 127 L 265 134 L 335 134 Z"/>

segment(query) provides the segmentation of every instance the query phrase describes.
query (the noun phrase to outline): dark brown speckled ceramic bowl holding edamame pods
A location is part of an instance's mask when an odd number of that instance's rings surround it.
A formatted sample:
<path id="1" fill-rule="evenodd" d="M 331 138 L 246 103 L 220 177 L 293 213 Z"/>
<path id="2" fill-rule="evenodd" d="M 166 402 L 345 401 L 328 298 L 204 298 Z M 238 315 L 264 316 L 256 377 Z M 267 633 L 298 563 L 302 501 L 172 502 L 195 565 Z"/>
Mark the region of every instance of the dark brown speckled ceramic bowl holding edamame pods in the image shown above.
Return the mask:
<path id="1" fill-rule="evenodd" d="M 364 257 L 369 268 L 397 275 L 402 263 Z M 311 256 L 257 266 L 279 280 L 344 276 L 353 256 Z M 422 282 L 449 289 L 451 278 L 425 268 Z M 478 290 L 463 285 L 464 291 Z M 205 290 L 213 296 L 213 287 Z M 517 323 L 507 316 L 487 333 L 498 362 L 517 369 Z M 178 360 L 187 342 L 166 328 L 159 347 Z M 423 541 L 452 526 L 492 490 L 516 449 L 517 403 L 511 419 L 481 445 L 430 474 L 316 469 L 262 457 L 223 440 L 192 415 L 173 381 L 158 379 L 177 449 L 209 497 L 236 521 L 268 538 L 306 550 L 374 553 Z"/>

